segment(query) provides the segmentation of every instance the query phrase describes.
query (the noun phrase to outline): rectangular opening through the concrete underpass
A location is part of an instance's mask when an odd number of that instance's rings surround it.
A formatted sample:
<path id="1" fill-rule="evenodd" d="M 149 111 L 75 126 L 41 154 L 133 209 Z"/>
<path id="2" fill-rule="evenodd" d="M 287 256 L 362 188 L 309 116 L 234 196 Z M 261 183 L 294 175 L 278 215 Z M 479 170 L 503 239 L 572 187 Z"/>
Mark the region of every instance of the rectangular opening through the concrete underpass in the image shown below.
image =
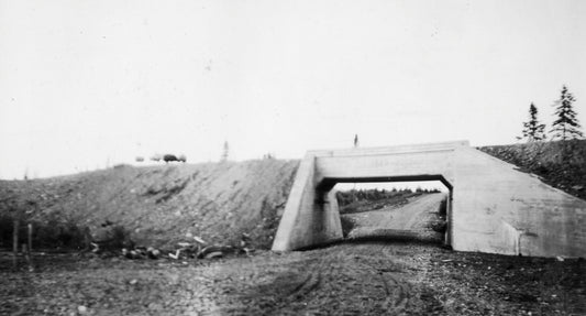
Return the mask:
<path id="1" fill-rule="evenodd" d="M 451 244 L 453 187 L 441 175 L 324 178 L 317 189 L 334 193 L 344 241 Z"/>

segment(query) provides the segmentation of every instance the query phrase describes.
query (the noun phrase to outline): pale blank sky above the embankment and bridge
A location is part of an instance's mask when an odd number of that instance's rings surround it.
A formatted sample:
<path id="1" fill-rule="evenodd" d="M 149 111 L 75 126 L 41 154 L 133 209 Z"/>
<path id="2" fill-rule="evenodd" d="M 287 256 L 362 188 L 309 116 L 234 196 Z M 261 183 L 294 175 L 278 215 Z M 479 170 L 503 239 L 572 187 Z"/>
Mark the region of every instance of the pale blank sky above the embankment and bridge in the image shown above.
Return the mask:
<path id="1" fill-rule="evenodd" d="M 586 1 L 0 0 L 0 178 L 508 144 L 566 85 L 586 126 Z M 583 128 L 584 130 L 584 128 Z"/>

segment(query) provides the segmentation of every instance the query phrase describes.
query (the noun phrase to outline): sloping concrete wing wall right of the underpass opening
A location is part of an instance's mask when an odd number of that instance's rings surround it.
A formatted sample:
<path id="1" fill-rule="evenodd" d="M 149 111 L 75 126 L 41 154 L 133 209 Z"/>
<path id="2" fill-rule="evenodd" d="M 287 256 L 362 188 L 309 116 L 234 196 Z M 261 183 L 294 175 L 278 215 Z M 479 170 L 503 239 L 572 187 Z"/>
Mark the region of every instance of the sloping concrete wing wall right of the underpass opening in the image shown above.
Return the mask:
<path id="1" fill-rule="evenodd" d="M 472 148 L 454 160 L 454 249 L 586 257 L 585 200 Z"/>

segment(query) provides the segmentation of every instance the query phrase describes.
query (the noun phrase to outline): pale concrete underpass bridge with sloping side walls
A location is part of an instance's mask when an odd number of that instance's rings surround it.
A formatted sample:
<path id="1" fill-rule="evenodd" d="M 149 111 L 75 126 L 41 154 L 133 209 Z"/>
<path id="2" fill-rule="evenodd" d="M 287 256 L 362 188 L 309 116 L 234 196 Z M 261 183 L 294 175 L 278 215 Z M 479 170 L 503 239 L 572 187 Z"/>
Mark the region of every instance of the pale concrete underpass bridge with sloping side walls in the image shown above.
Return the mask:
<path id="1" fill-rule="evenodd" d="M 466 141 L 308 152 L 273 250 L 343 238 L 336 183 L 405 181 L 441 181 L 450 189 L 445 242 L 454 250 L 586 257 L 586 200 Z"/>

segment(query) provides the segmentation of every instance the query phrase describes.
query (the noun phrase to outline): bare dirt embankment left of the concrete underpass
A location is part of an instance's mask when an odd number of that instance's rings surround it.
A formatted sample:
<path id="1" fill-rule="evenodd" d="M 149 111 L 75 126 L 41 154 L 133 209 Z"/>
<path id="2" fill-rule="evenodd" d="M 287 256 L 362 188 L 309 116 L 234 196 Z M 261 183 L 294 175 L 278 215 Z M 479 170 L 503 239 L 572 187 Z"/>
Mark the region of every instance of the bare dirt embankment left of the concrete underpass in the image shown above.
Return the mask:
<path id="1" fill-rule="evenodd" d="M 12 217 L 22 216 L 23 222 L 59 227 L 57 235 L 71 226 L 80 232 L 87 227 L 98 239 L 119 226 L 139 244 L 161 248 L 175 247 L 186 235 L 233 244 L 242 233 L 250 236 L 252 247 L 268 248 L 297 166 L 298 161 L 278 160 L 122 165 L 48 179 L 2 181 L 0 216 L 8 227 Z M 38 227 L 36 233 L 43 229 L 48 228 Z M 10 236 L 2 240 L 8 248 Z"/>

